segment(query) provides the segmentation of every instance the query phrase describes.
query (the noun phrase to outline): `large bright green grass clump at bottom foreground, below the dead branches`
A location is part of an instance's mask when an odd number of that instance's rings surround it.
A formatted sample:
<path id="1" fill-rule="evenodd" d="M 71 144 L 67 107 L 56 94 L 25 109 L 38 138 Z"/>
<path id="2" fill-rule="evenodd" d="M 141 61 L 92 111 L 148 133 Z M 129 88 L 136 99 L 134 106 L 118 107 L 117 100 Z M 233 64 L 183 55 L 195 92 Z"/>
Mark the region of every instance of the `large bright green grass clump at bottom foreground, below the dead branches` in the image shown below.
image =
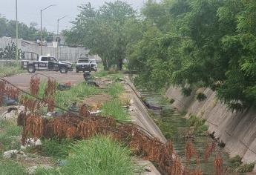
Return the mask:
<path id="1" fill-rule="evenodd" d="M 62 174 L 134 174 L 131 151 L 108 137 L 96 136 L 73 145 Z"/>

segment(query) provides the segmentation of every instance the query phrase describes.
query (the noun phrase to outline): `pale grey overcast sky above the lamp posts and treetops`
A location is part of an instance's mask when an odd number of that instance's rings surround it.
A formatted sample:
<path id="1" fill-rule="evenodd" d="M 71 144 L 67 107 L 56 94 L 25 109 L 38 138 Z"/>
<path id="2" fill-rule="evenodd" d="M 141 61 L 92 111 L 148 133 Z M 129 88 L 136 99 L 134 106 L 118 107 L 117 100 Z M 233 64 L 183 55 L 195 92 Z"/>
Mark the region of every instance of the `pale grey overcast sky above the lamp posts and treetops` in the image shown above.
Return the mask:
<path id="1" fill-rule="evenodd" d="M 42 26 L 56 33 L 57 19 L 67 15 L 67 18 L 59 22 L 59 30 L 69 28 L 69 22 L 75 19 L 78 14 L 78 5 L 91 2 L 93 7 L 99 7 L 105 1 L 114 0 L 18 0 L 18 20 L 28 25 L 30 22 L 36 22 L 38 27 L 40 27 L 40 10 L 50 4 L 56 4 L 55 7 L 50 7 L 42 13 Z M 142 7 L 143 1 L 145 0 L 126 1 L 134 9 L 138 10 Z M 16 19 L 15 0 L 0 0 L 0 2 L 0 14 L 7 19 Z"/>

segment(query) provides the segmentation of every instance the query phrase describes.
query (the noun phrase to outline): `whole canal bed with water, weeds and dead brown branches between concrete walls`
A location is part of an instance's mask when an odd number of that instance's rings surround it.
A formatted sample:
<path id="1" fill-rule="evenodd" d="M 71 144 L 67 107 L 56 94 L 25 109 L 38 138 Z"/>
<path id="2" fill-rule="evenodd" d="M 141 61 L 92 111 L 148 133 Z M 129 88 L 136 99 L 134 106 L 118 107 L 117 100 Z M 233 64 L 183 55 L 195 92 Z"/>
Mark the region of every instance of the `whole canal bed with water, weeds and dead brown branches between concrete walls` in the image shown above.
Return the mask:
<path id="1" fill-rule="evenodd" d="M 151 116 L 166 139 L 171 139 L 174 151 L 180 156 L 186 168 L 200 168 L 203 174 L 216 174 L 217 170 L 214 168 L 214 164 L 216 164 L 216 157 L 221 155 L 224 174 L 235 174 L 229 168 L 231 166 L 229 165 L 229 156 L 222 151 L 221 147 L 224 144 L 214 142 L 211 134 L 207 133 L 207 126 L 204 125 L 202 119 L 197 119 L 195 116 L 186 119 L 184 117 L 185 111 L 183 113 L 177 112 L 171 107 L 170 100 L 163 99 L 160 94 L 145 90 L 140 90 L 140 94 L 146 105 L 150 104 Z M 212 142 L 211 144 L 214 146 L 209 145 L 209 142 Z M 193 156 L 199 156 L 200 159 L 192 158 Z M 191 159 L 188 160 L 189 157 Z"/>

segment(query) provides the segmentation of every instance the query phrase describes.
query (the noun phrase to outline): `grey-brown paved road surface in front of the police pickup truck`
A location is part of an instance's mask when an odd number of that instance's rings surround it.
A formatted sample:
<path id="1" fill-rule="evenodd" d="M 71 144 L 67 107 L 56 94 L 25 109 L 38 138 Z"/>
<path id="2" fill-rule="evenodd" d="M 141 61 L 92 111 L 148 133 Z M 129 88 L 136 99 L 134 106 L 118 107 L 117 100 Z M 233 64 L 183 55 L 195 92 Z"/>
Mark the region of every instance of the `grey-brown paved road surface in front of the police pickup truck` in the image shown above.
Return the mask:
<path id="1" fill-rule="evenodd" d="M 75 72 L 68 72 L 68 73 L 59 73 L 54 71 L 37 71 L 36 73 L 43 73 L 46 76 L 51 76 L 57 80 L 59 83 L 71 82 L 72 84 L 76 84 L 78 82 L 84 81 L 83 73 L 75 73 Z M 17 85 L 22 90 L 28 90 L 30 85 L 30 78 L 34 74 L 32 73 L 21 73 L 16 76 L 8 76 L 4 79 Z M 45 76 L 38 75 L 42 79 L 47 79 Z"/>

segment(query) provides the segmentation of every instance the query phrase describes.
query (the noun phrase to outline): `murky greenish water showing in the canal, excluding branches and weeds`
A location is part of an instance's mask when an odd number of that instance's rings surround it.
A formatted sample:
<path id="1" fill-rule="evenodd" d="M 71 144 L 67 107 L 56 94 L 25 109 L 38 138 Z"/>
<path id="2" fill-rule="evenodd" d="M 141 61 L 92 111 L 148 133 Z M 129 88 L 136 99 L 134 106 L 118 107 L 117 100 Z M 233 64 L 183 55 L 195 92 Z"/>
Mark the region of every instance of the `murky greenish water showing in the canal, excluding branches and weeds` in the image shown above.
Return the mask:
<path id="1" fill-rule="evenodd" d="M 186 165 L 186 135 L 188 134 L 189 127 L 187 124 L 187 119 L 184 117 L 184 114 L 177 112 L 174 108 L 171 107 L 170 104 L 166 105 L 163 103 L 163 98 L 160 94 L 157 93 L 149 93 L 148 91 L 141 90 L 140 91 L 142 97 L 151 105 L 161 106 L 163 110 L 161 111 L 151 111 L 151 116 L 154 117 L 157 125 L 160 127 L 160 130 L 165 135 L 166 139 L 171 139 L 171 142 L 174 145 L 174 150 L 182 159 L 183 165 Z M 194 135 L 194 134 L 193 134 Z M 200 168 L 203 171 L 203 174 L 214 174 L 214 158 L 216 153 L 211 153 L 209 156 L 209 161 L 205 162 L 203 160 L 203 154 L 206 150 L 206 134 L 200 134 L 199 136 L 192 136 L 192 142 L 194 147 L 197 149 L 197 153 L 200 154 Z M 226 153 L 222 153 L 223 156 L 223 169 L 228 166 L 229 156 Z M 191 159 L 190 167 L 196 167 L 196 161 Z M 230 174 L 230 173 L 229 173 Z M 231 173 L 234 174 L 234 173 Z"/>

